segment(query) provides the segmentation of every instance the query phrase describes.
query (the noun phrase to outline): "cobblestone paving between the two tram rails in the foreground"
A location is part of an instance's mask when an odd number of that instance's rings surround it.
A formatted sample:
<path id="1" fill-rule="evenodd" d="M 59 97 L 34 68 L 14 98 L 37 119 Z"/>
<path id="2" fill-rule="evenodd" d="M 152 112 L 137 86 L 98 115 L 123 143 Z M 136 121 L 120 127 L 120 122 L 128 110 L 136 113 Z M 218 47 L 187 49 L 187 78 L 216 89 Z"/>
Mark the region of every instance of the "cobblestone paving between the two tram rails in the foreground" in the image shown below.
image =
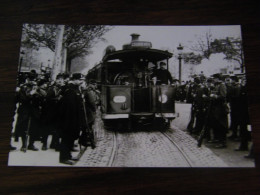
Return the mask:
<path id="1" fill-rule="evenodd" d="M 178 148 L 160 132 L 117 134 L 116 167 L 189 167 Z"/>

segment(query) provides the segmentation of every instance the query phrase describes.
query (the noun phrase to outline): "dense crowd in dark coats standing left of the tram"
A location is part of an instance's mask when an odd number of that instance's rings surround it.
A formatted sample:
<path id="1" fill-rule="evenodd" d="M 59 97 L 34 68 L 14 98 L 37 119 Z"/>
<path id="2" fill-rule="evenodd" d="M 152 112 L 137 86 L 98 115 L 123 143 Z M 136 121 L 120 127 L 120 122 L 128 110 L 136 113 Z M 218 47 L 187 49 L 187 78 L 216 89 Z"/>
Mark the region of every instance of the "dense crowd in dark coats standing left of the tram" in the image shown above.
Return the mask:
<path id="1" fill-rule="evenodd" d="M 99 105 L 95 83 L 87 83 L 80 73 L 58 74 L 51 81 L 48 75 L 35 71 L 20 75 L 18 80 L 13 134 L 15 141 L 21 139 L 21 151 L 38 151 L 34 142 L 41 141 L 42 150 L 55 149 L 60 163 L 72 165 L 78 160 L 71 155 L 76 143 L 95 148 L 92 126 Z"/>

